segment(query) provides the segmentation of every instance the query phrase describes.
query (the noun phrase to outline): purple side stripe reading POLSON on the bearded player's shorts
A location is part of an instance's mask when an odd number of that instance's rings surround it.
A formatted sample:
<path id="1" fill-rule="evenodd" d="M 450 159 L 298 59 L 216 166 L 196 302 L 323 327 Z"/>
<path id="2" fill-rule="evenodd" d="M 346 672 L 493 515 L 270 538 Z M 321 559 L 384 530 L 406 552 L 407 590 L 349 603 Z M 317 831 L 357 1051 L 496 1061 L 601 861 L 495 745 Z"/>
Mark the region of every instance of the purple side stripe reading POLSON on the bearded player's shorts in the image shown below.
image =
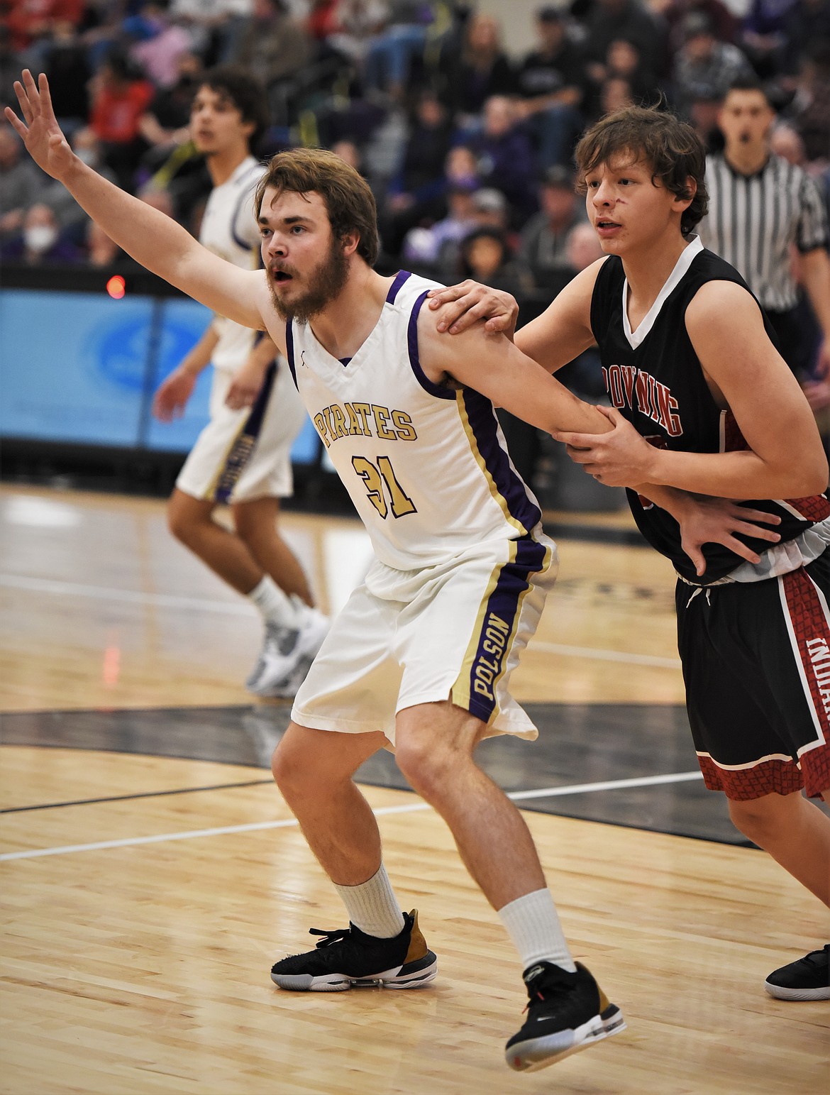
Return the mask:
<path id="1" fill-rule="evenodd" d="M 510 655 L 521 597 L 530 588 L 530 576 L 544 567 L 545 554 L 545 545 L 532 537 L 517 540 L 516 558 L 502 567 L 487 599 L 469 680 L 469 711 L 483 723 L 497 713 L 496 689 Z"/>

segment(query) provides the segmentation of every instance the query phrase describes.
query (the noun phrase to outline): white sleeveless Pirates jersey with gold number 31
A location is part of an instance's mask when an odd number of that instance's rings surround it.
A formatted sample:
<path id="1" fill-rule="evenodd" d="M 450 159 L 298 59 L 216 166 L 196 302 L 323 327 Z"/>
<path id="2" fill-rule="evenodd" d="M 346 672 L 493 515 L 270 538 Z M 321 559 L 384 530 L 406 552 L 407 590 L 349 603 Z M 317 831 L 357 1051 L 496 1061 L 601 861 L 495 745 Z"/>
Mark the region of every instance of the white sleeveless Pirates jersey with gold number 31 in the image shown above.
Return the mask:
<path id="1" fill-rule="evenodd" d="M 443 562 L 541 520 L 493 404 L 433 383 L 418 360 L 417 318 L 435 281 L 401 273 L 369 337 L 347 362 L 309 324 L 286 327 L 288 364 L 378 558 L 400 570 Z"/>

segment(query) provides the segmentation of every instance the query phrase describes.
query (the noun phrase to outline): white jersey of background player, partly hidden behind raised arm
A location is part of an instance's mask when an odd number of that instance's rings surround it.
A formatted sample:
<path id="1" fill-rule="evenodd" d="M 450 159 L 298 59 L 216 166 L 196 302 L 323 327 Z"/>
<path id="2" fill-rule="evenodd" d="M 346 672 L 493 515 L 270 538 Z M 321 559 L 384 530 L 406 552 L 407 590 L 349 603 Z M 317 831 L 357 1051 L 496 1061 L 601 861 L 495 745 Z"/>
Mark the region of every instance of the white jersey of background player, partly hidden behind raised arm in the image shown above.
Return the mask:
<path id="1" fill-rule="evenodd" d="M 227 182 L 210 192 L 199 231 L 199 241 L 209 251 L 249 270 L 260 265 L 254 191 L 264 171 L 252 155 L 246 157 Z M 251 353 L 257 333 L 223 315 L 217 315 L 215 322 L 219 343 L 214 350 L 214 366 L 238 369 Z"/>

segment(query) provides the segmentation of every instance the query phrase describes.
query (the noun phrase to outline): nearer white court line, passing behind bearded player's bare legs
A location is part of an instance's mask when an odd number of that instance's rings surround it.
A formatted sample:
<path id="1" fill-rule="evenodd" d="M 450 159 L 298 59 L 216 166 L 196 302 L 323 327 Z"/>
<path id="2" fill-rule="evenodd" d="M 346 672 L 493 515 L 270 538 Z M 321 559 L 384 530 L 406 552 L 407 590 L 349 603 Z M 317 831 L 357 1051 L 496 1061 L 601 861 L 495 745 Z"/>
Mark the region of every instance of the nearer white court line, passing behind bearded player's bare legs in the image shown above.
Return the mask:
<path id="1" fill-rule="evenodd" d="M 602 783 L 576 783 L 566 787 L 539 787 L 535 791 L 512 791 L 508 798 L 523 802 L 528 798 L 554 798 L 560 795 L 585 795 L 592 791 L 619 791 L 622 787 L 650 787 L 660 783 L 685 783 L 689 780 L 702 780 L 696 772 L 675 772 L 671 775 L 645 775 L 632 780 L 606 780 Z M 382 806 L 374 810 L 377 817 L 388 814 L 415 814 L 417 810 L 431 809 L 423 800 L 406 803 L 404 806 Z M 139 844 L 160 844 L 169 840 L 193 840 L 196 837 L 227 837 L 238 832 L 257 832 L 262 829 L 286 829 L 296 826 L 296 818 L 284 821 L 252 821 L 249 825 L 223 826 L 220 829 L 192 829 L 186 832 L 163 832 L 155 837 L 127 837 L 124 840 L 100 840 L 94 844 L 65 844 L 62 848 L 38 848 L 27 852 L 7 852 L 0 855 L 0 863 L 10 860 L 34 860 L 43 855 L 68 855 L 72 852 L 100 852 L 109 848 L 135 848 Z"/>

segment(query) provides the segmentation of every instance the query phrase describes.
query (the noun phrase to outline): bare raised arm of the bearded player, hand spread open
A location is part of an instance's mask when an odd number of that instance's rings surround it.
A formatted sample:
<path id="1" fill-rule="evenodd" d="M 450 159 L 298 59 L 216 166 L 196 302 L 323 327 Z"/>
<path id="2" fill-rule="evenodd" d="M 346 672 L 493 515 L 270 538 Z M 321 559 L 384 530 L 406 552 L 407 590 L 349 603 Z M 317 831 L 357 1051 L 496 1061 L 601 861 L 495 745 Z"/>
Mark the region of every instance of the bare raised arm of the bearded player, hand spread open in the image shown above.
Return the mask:
<path id="1" fill-rule="evenodd" d="M 5 117 L 23 138 L 32 159 L 66 186 L 118 246 L 214 311 L 249 327 L 263 326 L 268 290 L 262 272 L 239 269 L 211 254 L 181 224 L 82 163 L 57 123 L 43 73 L 35 82 L 24 70 L 14 91 L 23 120 L 9 106 Z"/>

